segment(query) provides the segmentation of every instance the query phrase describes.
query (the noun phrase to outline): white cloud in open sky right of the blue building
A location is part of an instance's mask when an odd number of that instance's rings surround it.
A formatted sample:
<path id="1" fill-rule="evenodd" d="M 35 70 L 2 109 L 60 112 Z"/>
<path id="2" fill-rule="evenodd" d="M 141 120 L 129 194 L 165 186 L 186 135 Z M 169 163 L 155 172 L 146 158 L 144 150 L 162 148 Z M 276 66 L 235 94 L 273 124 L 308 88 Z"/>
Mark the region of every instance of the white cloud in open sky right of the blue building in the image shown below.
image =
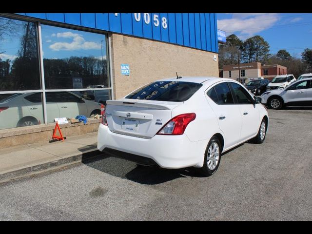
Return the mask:
<path id="1" fill-rule="evenodd" d="M 279 14 L 275 13 L 235 13 L 232 19 L 217 20 L 217 25 L 227 35 L 235 33 L 244 40 L 272 27 L 277 20 Z"/>

